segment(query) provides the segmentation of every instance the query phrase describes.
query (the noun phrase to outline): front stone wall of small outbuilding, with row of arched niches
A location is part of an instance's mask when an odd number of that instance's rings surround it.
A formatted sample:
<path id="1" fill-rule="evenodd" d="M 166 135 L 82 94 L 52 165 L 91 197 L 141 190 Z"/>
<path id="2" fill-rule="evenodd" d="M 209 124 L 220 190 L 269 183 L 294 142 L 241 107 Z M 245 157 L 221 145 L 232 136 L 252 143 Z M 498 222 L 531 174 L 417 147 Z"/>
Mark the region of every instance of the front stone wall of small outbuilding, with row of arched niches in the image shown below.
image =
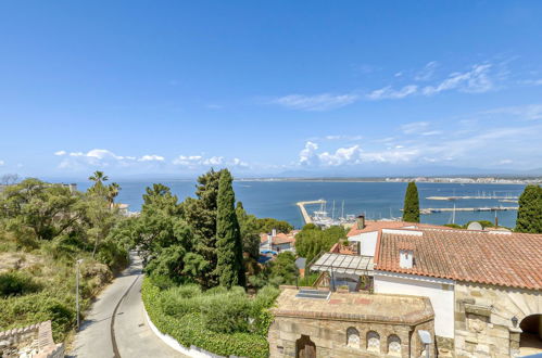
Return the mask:
<path id="1" fill-rule="evenodd" d="M 378 322 L 276 317 L 269 334 L 272 357 L 295 357 L 297 341 L 307 335 L 317 357 L 419 357 L 424 347 L 417 330 L 433 335 L 433 322 L 414 327 Z M 431 356 L 433 356 L 431 347 Z"/>

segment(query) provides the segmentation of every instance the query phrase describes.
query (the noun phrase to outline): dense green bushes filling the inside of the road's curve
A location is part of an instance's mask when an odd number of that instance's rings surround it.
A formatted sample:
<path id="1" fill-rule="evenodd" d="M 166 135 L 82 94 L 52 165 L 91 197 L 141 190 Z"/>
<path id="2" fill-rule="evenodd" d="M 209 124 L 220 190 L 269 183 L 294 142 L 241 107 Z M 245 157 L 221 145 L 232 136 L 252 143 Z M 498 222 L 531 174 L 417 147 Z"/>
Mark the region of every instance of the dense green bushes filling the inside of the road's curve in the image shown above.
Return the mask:
<path id="1" fill-rule="evenodd" d="M 278 290 L 265 287 L 255 299 L 242 287 L 214 287 L 201 292 L 184 285 L 161 291 L 146 278 L 143 304 L 156 328 L 181 345 L 194 345 L 222 356 L 268 357 L 268 307 Z"/>

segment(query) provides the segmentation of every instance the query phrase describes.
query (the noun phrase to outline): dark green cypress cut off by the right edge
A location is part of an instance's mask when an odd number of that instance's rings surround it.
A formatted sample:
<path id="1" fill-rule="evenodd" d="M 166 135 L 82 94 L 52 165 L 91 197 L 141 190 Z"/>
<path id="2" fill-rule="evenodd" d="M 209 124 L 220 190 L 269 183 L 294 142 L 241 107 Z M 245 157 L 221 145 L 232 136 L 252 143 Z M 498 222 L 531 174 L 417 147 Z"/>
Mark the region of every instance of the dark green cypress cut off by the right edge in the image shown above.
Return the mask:
<path id="1" fill-rule="evenodd" d="M 527 186 L 519 196 L 517 232 L 542 233 L 542 188 Z"/>

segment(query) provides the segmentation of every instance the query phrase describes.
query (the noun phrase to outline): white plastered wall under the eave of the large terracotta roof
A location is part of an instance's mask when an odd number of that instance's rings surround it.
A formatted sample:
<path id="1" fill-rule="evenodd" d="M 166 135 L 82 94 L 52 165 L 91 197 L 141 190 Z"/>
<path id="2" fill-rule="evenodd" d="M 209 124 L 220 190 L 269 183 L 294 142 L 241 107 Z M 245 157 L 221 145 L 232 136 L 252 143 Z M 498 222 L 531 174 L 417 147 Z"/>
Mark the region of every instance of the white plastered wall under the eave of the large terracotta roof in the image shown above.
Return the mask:
<path id="1" fill-rule="evenodd" d="M 375 293 L 425 296 L 434 311 L 434 334 L 454 337 L 454 282 L 415 274 L 375 271 Z"/>

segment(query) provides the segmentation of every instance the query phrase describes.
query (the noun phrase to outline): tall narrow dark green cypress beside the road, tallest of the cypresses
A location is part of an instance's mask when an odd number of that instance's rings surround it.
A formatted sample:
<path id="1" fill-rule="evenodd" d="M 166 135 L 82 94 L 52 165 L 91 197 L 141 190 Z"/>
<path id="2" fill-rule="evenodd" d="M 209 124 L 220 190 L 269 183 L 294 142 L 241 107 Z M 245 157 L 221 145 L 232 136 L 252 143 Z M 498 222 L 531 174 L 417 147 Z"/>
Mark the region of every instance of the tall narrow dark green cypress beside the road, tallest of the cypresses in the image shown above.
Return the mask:
<path id="1" fill-rule="evenodd" d="M 245 285 L 241 232 L 231 182 L 229 170 L 222 170 L 216 210 L 216 274 L 219 284 L 226 287 Z"/>

